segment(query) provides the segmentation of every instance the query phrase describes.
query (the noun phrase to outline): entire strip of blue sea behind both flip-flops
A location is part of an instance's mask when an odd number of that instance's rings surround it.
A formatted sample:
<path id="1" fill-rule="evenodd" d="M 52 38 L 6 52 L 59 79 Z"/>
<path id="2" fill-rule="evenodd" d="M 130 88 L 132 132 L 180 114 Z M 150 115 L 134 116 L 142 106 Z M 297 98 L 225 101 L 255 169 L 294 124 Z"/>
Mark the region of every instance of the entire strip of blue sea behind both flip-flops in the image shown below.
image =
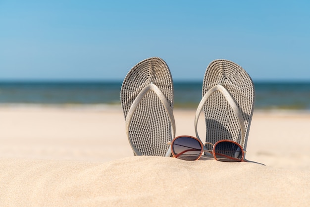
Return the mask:
<path id="1" fill-rule="evenodd" d="M 5 81 L 0 105 L 120 105 L 121 81 Z M 256 109 L 310 111 L 310 82 L 254 82 Z M 202 82 L 174 82 L 174 108 L 196 108 Z"/>

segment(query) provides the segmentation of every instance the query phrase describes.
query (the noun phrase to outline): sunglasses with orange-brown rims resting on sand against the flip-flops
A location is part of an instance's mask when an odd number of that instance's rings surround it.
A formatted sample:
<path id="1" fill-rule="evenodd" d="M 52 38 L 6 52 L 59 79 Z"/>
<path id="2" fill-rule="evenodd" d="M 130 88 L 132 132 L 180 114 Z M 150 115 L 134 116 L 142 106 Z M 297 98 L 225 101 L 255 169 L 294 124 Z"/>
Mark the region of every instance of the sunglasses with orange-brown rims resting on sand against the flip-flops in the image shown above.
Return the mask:
<path id="1" fill-rule="evenodd" d="M 246 153 L 242 147 L 231 140 L 220 140 L 214 145 L 212 143 L 202 143 L 199 139 L 192 136 L 178 136 L 168 144 L 171 145 L 171 154 L 183 160 L 197 160 L 204 152 L 210 153 L 218 161 L 241 162 L 244 161 Z M 211 145 L 212 150 L 207 150 L 205 145 Z"/>

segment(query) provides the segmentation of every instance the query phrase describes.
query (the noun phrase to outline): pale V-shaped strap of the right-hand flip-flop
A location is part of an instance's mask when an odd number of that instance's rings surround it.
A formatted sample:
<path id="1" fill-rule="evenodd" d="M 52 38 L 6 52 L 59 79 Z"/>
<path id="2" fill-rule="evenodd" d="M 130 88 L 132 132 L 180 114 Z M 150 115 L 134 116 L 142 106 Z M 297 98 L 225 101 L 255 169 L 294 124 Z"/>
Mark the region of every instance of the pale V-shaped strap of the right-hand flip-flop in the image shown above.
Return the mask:
<path id="1" fill-rule="evenodd" d="M 232 98 L 232 96 L 230 95 L 229 91 L 227 91 L 227 89 L 222 86 L 221 84 L 215 85 L 212 88 L 210 88 L 207 93 L 205 94 L 205 96 L 202 98 L 202 100 L 200 101 L 197 110 L 196 110 L 196 115 L 195 115 L 195 132 L 196 132 L 196 137 L 198 139 L 199 135 L 198 135 L 198 130 L 197 130 L 197 124 L 198 124 L 198 119 L 199 119 L 199 115 L 201 113 L 201 111 L 203 110 L 204 105 L 207 102 L 207 99 L 216 91 L 219 91 L 223 94 L 223 96 L 226 98 L 227 102 L 229 103 L 229 105 L 231 106 L 231 108 L 233 109 L 239 124 L 240 124 L 240 129 L 241 129 L 241 140 L 240 140 L 240 145 L 242 146 L 243 140 L 245 139 L 245 124 L 244 124 L 244 119 L 242 117 L 242 114 L 239 110 L 238 105 L 235 103 L 234 99 Z M 220 104 L 220 103 L 219 103 Z M 214 144 L 214 143 L 213 143 Z"/>

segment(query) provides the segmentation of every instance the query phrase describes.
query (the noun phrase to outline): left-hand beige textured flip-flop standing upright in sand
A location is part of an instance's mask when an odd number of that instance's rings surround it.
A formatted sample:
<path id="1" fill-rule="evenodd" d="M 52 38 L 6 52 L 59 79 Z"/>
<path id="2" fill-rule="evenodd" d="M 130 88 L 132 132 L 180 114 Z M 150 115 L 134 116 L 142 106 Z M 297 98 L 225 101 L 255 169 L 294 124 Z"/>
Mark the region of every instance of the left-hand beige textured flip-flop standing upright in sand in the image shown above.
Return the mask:
<path id="1" fill-rule="evenodd" d="M 170 156 L 175 137 L 173 81 L 165 61 L 151 57 L 136 64 L 121 87 L 126 133 L 134 155 Z"/>

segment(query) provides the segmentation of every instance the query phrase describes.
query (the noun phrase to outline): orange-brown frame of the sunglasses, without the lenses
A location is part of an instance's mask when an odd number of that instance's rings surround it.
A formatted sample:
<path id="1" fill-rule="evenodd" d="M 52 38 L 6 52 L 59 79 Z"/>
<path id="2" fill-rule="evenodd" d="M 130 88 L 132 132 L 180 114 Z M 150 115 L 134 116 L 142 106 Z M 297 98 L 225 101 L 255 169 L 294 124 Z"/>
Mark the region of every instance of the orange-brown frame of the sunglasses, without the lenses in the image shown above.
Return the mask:
<path id="1" fill-rule="evenodd" d="M 236 160 L 236 162 L 245 161 L 244 155 L 245 155 L 245 153 L 246 153 L 247 151 L 243 150 L 243 148 L 241 147 L 241 145 L 238 144 L 237 142 L 234 142 L 234 141 L 232 141 L 232 140 L 219 140 L 219 141 L 217 141 L 215 144 L 212 144 L 212 143 L 209 143 L 209 142 L 202 143 L 202 141 L 201 141 L 200 139 L 198 139 L 198 138 L 196 138 L 196 137 L 193 137 L 193 136 L 189 136 L 189 135 L 177 136 L 177 137 L 175 137 L 172 141 L 167 142 L 167 144 L 170 145 L 171 154 L 172 154 L 172 156 L 175 157 L 175 158 L 178 158 L 178 156 L 175 155 L 174 152 L 173 152 L 173 143 L 174 143 L 175 140 L 177 140 L 178 138 L 181 138 L 181 137 L 188 137 L 188 138 L 195 139 L 195 140 L 197 140 L 197 141 L 199 142 L 199 144 L 201 145 L 200 154 L 199 154 L 198 158 L 195 159 L 195 160 L 200 159 L 200 157 L 203 155 L 203 152 L 207 152 L 207 153 L 210 153 L 210 154 L 214 157 L 215 160 L 221 161 L 221 160 L 218 160 L 217 157 L 216 157 L 215 147 L 216 147 L 217 144 L 219 144 L 219 143 L 221 143 L 221 142 L 230 142 L 230 143 L 233 143 L 233 144 L 237 145 L 237 146 L 241 149 L 242 157 L 241 157 L 241 159 L 237 159 L 237 158 L 233 158 L 233 157 L 229 157 L 229 158 L 232 159 L 232 160 Z M 211 151 L 206 149 L 206 146 L 205 146 L 206 144 L 212 145 L 212 150 L 211 150 Z M 192 161 L 195 161 L 195 160 L 192 160 Z"/>

